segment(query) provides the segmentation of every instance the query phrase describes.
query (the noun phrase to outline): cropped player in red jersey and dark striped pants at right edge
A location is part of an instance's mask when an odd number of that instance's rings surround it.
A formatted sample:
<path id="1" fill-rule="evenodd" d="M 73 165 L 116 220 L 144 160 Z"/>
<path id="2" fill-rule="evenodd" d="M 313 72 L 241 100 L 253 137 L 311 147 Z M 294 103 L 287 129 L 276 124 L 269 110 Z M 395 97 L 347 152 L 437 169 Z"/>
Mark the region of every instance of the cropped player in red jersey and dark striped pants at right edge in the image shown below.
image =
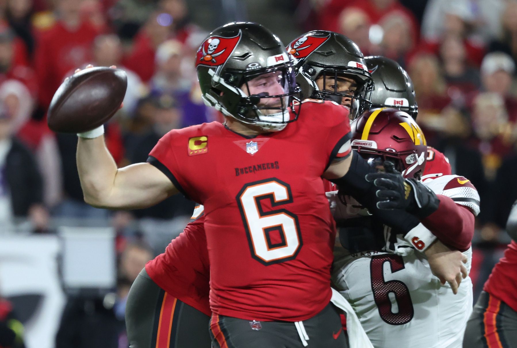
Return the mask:
<path id="1" fill-rule="evenodd" d="M 512 238 L 494 266 L 465 330 L 465 348 L 517 347 L 517 202 L 506 230 Z"/>

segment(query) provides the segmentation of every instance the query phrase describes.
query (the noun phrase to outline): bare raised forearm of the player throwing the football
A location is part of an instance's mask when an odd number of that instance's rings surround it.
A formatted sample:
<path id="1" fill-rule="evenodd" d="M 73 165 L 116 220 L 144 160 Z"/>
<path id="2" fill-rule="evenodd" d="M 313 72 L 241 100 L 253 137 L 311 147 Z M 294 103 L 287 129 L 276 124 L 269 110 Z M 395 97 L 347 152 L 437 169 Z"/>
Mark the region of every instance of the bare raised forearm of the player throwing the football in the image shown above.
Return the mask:
<path id="1" fill-rule="evenodd" d="M 115 182 L 117 165 L 104 144 L 104 136 L 93 139 L 79 137 L 77 170 L 84 201 L 94 207 L 106 205 Z"/>

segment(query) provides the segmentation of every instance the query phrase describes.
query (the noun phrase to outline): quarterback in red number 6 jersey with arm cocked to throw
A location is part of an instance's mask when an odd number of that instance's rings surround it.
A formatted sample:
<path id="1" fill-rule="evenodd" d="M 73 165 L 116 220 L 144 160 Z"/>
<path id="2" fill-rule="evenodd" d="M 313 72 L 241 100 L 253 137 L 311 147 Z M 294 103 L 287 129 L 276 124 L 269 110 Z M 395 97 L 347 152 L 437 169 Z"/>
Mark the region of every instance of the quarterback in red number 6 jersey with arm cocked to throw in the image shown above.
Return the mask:
<path id="1" fill-rule="evenodd" d="M 203 98 L 226 116 L 225 124 L 173 130 L 148 163 L 121 169 L 102 130 L 79 134 L 85 201 L 143 208 L 181 192 L 204 204 L 216 345 L 302 346 L 312 338 L 315 346 L 342 346 L 343 337 L 332 335 L 340 326 L 329 304 L 335 230 L 321 177 L 354 186 L 379 211 L 373 185 L 364 180 L 371 168 L 350 155 L 348 108 L 295 105 L 291 59 L 257 24 L 216 29 L 196 64 Z M 402 229 L 412 223 L 402 210 L 378 213 Z"/>

